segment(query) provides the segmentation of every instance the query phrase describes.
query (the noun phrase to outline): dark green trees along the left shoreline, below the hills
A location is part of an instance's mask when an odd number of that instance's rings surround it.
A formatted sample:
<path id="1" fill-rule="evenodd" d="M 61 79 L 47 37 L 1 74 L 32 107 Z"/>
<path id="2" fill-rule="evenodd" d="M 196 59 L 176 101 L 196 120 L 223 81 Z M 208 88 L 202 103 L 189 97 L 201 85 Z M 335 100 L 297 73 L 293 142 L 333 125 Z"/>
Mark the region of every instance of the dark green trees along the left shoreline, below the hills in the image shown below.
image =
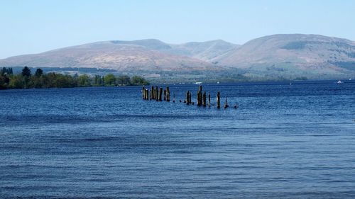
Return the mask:
<path id="1" fill-rule="evenodd" d="M 46 88 L 71 88 L 80 86 L 133 86 L 148 85 L 142 76 L 105 76 L 87 74 L 69 75 L 60 73 L 43 73 L 38 68 L 32 74 L 31 69 L 23 67 L 20 74 L 13 74 L 12 68 L 0 69 L 0 89 L 46 89 Z"/>

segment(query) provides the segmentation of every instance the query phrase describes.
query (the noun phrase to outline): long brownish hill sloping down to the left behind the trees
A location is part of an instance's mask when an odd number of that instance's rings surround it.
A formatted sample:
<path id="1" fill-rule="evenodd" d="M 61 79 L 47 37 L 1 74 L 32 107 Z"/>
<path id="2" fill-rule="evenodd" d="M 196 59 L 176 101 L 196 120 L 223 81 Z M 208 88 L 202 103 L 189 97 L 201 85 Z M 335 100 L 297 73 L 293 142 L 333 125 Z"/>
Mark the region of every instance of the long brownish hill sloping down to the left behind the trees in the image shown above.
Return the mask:
<path id="1" fill-rule="evenodd" d="M 159 40 L 94 42 L 35 55 L 0 60 L 0 65 L 28 67 L 87 67 L 118 71 L 212 69 L 200 59 L 164 52 L 170 45 Z"/>

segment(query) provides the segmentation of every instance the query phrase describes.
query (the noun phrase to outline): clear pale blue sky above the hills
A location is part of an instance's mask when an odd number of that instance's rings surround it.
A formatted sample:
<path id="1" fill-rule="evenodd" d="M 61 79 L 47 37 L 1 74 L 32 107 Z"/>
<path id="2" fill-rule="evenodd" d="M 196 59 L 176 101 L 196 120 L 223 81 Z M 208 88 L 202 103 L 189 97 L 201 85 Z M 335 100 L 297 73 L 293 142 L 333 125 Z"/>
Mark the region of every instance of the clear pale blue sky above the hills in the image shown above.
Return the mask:
<path id="1" fill-rule="evenodd" d="M 355 40 L 354 0 L 0 0 L 0 59 L 103 40 Z"/>

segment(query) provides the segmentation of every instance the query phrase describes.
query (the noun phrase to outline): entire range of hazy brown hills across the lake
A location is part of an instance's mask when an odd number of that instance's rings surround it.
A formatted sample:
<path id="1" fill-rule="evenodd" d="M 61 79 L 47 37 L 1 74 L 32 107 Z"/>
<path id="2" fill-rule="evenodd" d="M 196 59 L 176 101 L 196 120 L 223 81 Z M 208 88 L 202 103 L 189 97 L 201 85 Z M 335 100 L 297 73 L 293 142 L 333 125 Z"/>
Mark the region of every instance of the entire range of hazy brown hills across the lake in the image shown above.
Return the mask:
<path id="1" fill-rule="evenodd" d="M 23 66 L 113 69 L 167 81 L 351 78 L 355 42 L 302 34 L 269 35 L 244 45 L 224 40 L 111 40 L 0 59 L 0 67 Z"/>

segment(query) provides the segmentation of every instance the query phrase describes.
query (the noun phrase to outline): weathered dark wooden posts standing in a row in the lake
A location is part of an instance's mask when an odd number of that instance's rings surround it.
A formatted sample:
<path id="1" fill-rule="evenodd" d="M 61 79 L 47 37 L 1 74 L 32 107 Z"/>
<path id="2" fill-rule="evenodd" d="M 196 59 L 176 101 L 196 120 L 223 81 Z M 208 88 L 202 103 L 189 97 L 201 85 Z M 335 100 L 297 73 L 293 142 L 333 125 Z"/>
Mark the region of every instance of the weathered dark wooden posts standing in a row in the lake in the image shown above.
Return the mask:
<path id="1" fill-rule="evenodd" d="M 184 103 L 187 105 L 195 105 L 195 102 L 193 102 L 192 99 L 192 93 L 190 91 L 186 92 L 186 97 L 184 100 Z M 146 86 L 143 86 L 142 89 L 142 98 L 143 100 L 155 100 L 155 101 L 170 101 L 170 90 L 169 86 L 166 86 L 165 89 L 163 90 L 162 87 L 158 88 L 158 86 L 151 86 L 151 89 L 146 89 Z M 182 102 L 180 100 L 180 102 Z M 175 103 L 175 93 L 173 93 L 173 103 Z M 203 91 L 202 93 L 202 86 L 199 86 L 199 90 L 197 91 L 197 106 L 208 106 L 211 107 L 211 94 L 208 92 L 208 96 L 206 91 Z M 228 108 L 229 105 L 227 103 L 227 100 L 224 103 L 224 108 Z M 221 94 L 218 91 L 217 92 L 217 108 L 221 108 Z M 237 108 L 234 106 L 234 108 Z"/>

